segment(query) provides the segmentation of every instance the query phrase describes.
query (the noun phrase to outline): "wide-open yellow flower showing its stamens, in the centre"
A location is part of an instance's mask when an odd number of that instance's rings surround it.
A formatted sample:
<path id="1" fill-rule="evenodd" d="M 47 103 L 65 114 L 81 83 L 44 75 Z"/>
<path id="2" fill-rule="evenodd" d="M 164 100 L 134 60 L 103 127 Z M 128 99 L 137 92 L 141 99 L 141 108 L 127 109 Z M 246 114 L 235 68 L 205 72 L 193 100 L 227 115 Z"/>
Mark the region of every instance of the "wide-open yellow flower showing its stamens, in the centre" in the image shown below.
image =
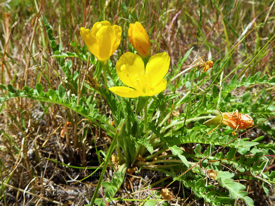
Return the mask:
<path id="1" fill-rule="evenodd" d="M 111 92 L 122 97 L 154 96 L 166 89 L 170 57 L 166 52 L 151 56 L 146 68 L 140 56 L 126 52 L 116 62 L 119 79 L 127 86 L 112 87 Z"/>

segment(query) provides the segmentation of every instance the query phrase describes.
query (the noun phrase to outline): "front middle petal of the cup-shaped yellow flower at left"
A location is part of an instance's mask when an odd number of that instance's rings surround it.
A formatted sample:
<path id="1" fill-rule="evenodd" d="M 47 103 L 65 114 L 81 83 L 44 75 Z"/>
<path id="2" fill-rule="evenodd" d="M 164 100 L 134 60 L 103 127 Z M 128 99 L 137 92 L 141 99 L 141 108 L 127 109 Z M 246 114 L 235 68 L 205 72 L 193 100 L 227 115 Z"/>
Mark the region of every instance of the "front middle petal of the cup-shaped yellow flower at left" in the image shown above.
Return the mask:
<path id="1" fill-rule="evenodd" d="M 99 45 L 99 56 L 97 58 L 100 61 L 108 60 L 110 51 L 112 50 L 112 27 L 111 26 L 102 26 L 96 34 L 97 43 Z"/>

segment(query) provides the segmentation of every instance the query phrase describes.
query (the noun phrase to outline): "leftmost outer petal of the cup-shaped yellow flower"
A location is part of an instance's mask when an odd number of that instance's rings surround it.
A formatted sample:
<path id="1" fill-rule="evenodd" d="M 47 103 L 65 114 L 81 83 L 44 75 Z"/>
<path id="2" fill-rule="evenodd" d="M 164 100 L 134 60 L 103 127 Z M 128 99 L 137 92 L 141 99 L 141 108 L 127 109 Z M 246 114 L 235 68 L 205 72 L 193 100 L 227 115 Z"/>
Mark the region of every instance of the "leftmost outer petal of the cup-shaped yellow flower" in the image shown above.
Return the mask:
<path id="1" fill-rule="evenodd" d="M 84 27 L 80 28 L 80 35 L 85 42 L 87 48 L 94 56 L 99 56 L 99 48 L 97 44 L 97 40 L 95 36 L 92 35 L 89 29 L 85 29 Z"/>

